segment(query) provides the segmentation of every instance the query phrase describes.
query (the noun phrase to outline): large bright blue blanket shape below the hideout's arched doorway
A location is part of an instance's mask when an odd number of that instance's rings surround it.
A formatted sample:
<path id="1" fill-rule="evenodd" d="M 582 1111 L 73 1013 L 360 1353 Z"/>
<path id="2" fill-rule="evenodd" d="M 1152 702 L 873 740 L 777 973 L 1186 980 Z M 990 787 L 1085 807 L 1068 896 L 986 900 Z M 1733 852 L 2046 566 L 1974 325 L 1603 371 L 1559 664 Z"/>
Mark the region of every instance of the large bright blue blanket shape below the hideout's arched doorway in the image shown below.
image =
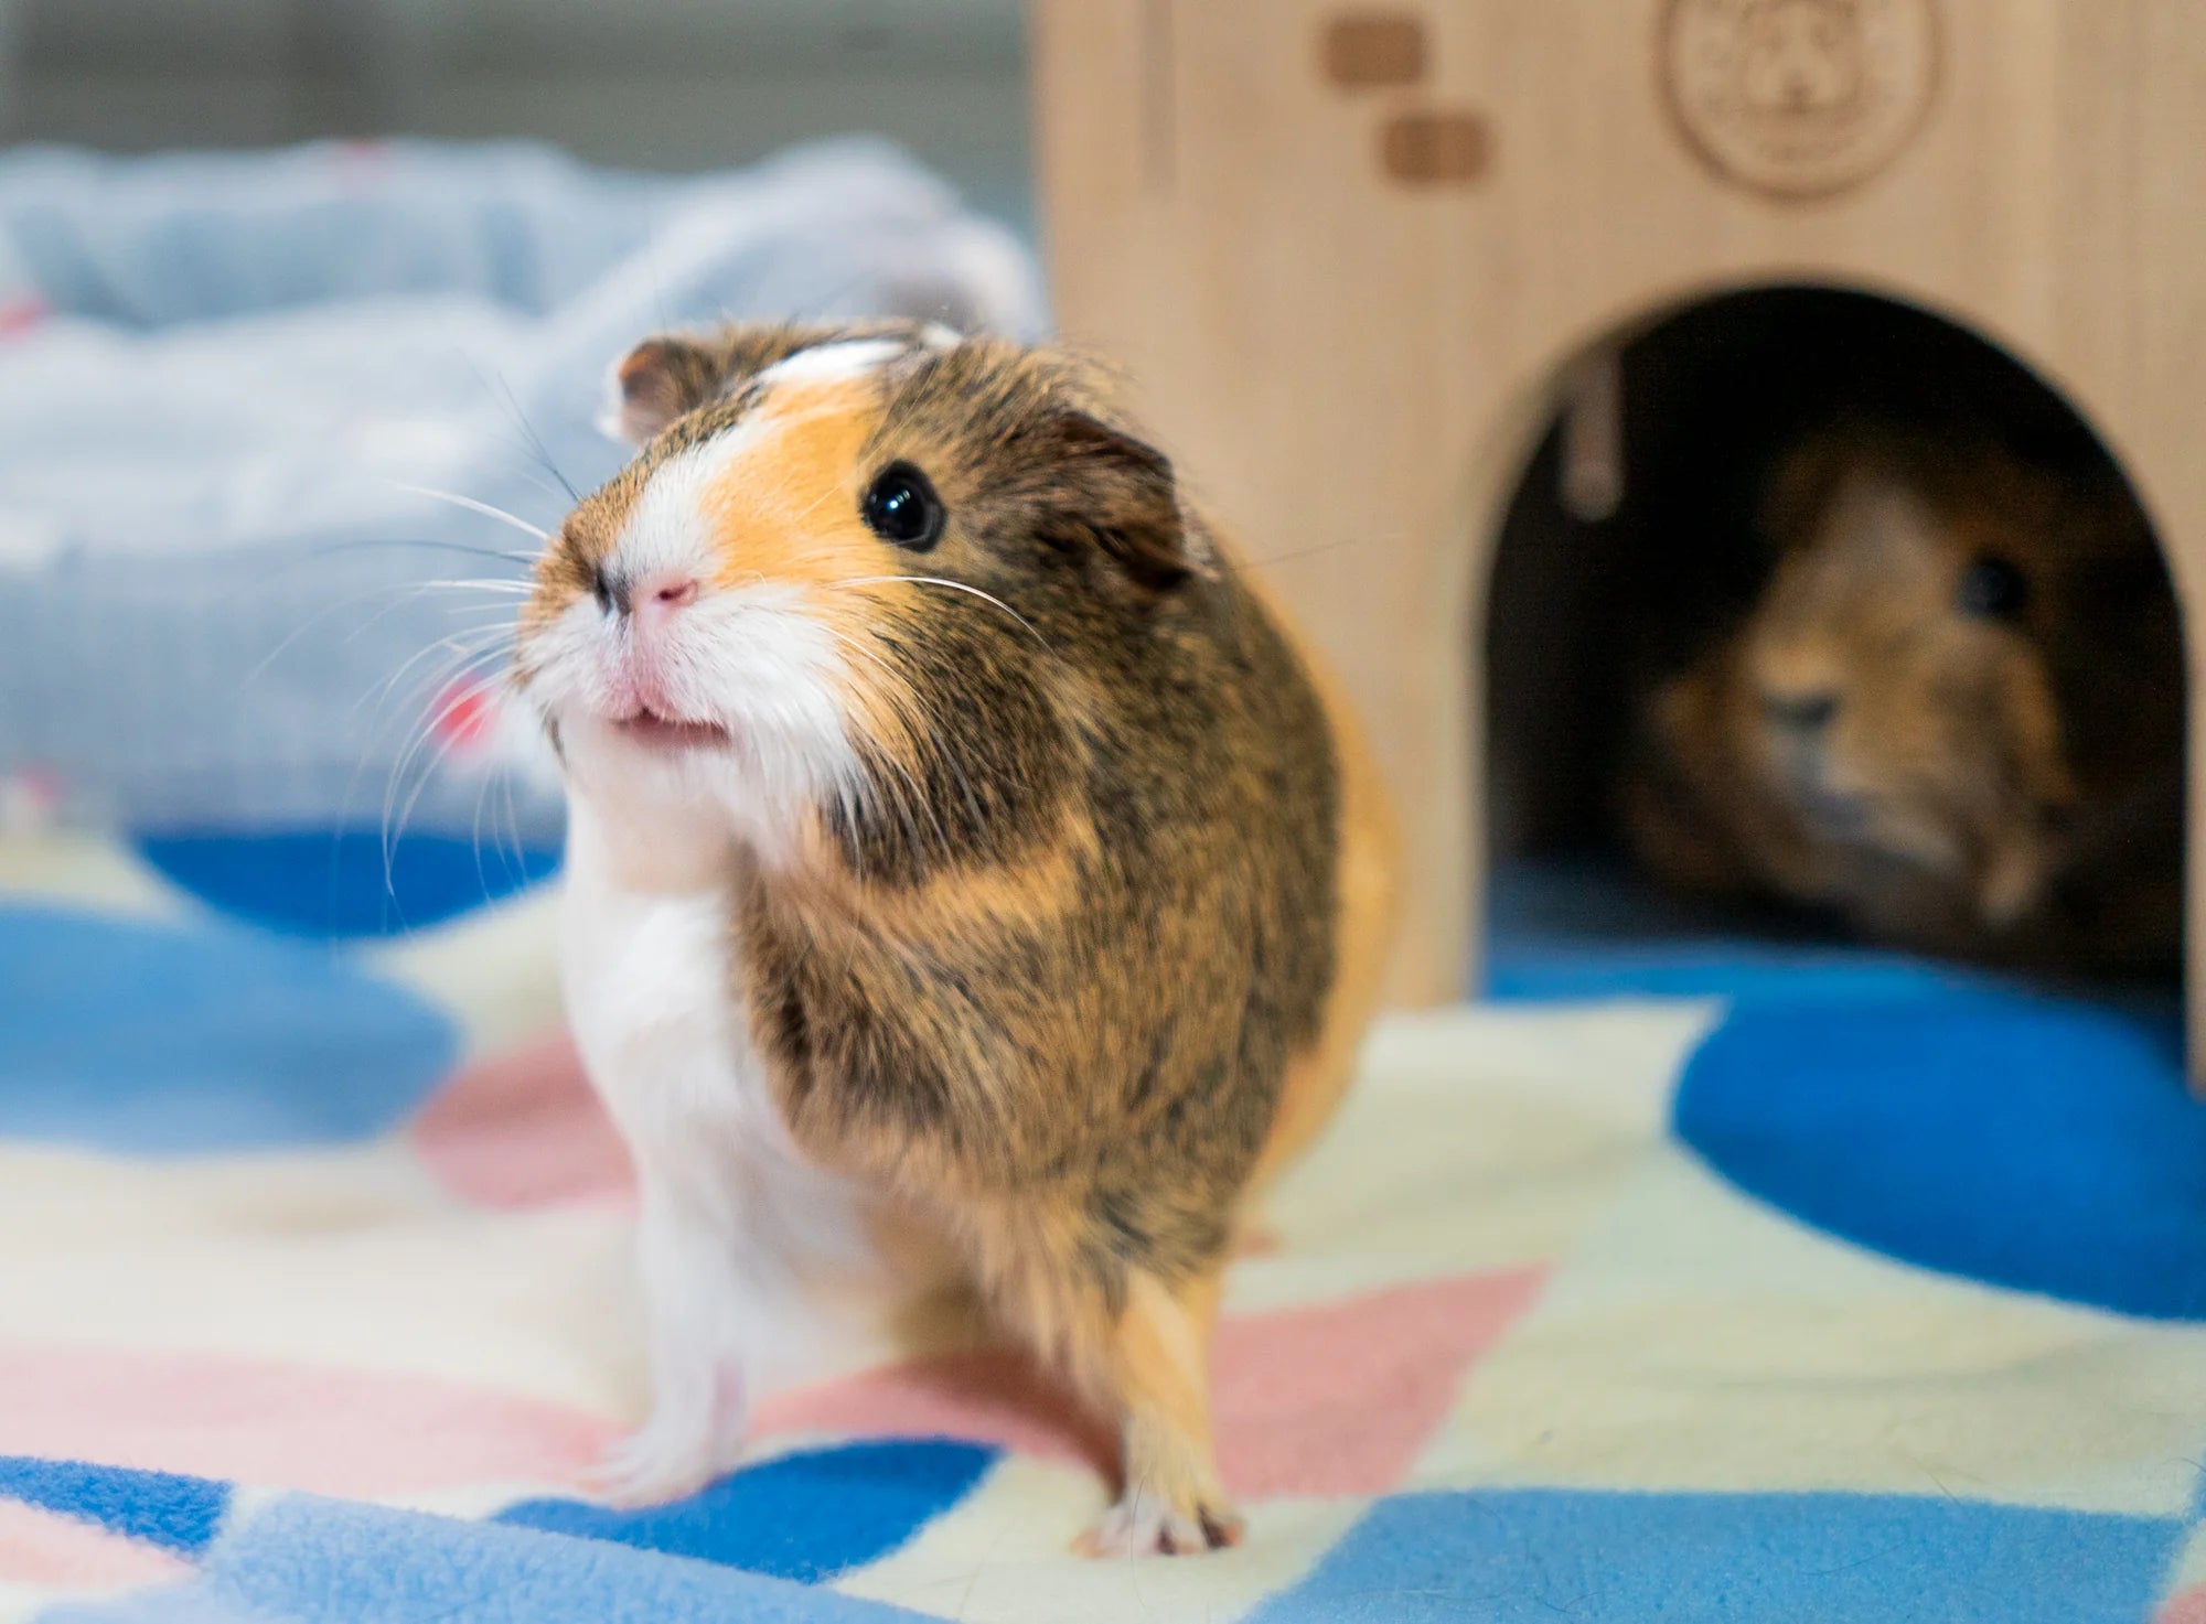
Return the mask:
<path id="1" fill-rule="evenodd" d="M 2206 1317 L 2206 1108 L 2173 1013 L 1747 1000 L 1685 1066 L 1674 1125 L 1747 1194 L 1886 1256 Z"/>

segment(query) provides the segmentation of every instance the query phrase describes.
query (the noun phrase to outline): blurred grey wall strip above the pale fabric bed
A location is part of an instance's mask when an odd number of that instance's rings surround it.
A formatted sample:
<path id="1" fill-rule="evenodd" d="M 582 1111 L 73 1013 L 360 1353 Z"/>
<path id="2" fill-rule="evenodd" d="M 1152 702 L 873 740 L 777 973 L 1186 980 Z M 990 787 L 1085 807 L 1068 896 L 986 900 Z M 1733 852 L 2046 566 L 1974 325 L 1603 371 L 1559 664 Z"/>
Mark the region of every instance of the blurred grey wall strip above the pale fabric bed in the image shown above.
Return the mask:
<path id="1" fill-rule="evenodd" d="M 1019 0 L 0 0 L 0 141 L 525 137 L 640 170 L 874 130 L 1032 218 Z"/>

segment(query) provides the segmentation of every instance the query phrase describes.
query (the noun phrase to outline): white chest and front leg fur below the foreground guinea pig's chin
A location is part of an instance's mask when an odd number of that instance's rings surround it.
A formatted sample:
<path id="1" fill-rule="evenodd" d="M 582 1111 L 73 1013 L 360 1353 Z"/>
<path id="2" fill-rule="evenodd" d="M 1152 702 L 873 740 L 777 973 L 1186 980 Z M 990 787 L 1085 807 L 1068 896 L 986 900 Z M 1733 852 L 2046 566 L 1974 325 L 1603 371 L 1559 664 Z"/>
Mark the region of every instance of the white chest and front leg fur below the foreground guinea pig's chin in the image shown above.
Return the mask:
<path id="1" fill-rule="evenodd" d="M 863 1192 L 796 1156 L 743 1030 L 730 850 L 710 819 L 574 797 L 567 1019 L 642 1198 L 653 1399 L 609 1463 L 620 1498 L 728 1467 L 750 1401 L 847 1335 L 836 1289 L 887 1286 Z"/>

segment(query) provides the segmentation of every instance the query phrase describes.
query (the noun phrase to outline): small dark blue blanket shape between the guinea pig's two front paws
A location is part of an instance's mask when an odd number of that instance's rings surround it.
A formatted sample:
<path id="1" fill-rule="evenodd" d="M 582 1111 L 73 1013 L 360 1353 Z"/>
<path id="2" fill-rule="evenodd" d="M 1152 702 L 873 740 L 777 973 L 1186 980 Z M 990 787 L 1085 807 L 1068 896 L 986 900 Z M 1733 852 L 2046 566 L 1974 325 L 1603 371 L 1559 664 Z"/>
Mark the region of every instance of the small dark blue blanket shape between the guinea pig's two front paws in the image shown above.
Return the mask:
<path id="1" fill-rule="evenodd" d="M 785 1454 L 671 1505 L 523 1500 L 499 1522 L 818 1582 L 887 1556 L 979 1483 L 995 1450 L 891 1439 Z"/>

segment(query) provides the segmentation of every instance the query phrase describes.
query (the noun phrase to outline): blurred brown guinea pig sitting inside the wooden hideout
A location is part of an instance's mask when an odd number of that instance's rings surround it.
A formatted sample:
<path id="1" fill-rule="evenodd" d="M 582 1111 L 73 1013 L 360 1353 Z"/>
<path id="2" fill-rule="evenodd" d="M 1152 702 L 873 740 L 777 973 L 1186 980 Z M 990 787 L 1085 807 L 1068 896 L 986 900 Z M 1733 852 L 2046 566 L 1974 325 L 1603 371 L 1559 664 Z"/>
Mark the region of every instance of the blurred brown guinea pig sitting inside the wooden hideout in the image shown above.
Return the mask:
<path id="1" fill-rule="evenodd" d="M 1941 953 L 2173 966 L 2182 644 L 2120 477 L 1846 424 L 1778 461 L 1763 530 L 1745 622 L 1639 715 L 1648 867 Z"/>

